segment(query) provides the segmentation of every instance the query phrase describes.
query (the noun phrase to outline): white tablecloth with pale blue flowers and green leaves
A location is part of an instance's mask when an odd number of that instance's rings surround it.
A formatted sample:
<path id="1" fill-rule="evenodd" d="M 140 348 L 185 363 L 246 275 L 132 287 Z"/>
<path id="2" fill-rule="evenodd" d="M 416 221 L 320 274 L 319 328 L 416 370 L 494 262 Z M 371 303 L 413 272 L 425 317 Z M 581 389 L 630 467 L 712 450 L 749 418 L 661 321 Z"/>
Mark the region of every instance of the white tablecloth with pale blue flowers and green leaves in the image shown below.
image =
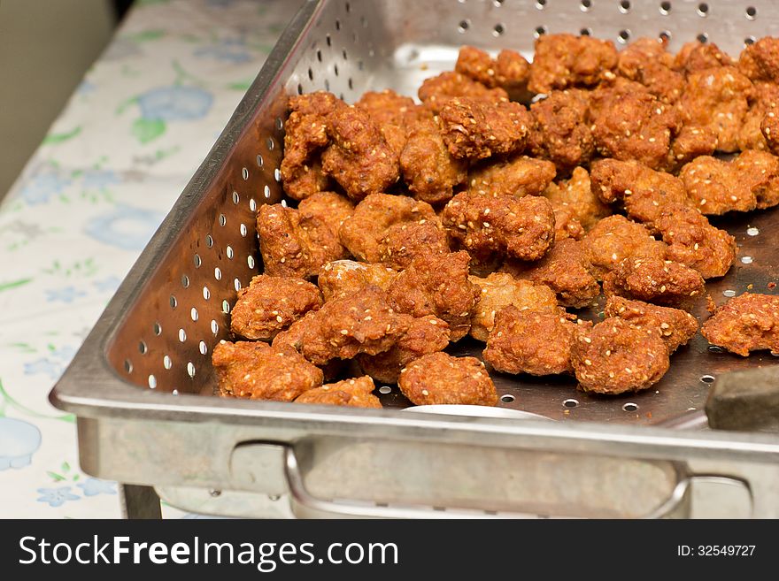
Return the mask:
<path id="1" fill-rule="evenodd" d="M 120 516 L 47 395 L 298 5 L 138 0 L 0 204 L 0 517 Z"/>

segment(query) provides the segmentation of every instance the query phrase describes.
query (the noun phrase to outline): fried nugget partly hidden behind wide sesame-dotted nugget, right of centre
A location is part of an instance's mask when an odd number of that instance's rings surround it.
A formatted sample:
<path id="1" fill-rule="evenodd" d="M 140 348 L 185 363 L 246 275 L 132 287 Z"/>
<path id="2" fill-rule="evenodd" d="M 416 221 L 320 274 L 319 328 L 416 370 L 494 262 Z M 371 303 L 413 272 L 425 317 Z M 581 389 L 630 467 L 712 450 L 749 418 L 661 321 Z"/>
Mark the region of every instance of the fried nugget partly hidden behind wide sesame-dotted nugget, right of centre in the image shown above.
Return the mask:
<path id="1" fill-rule="evenodd" d="M 603 279 L 625 258 L 654 257 L 663 260 L 666 245 L 652 238 L 643 225 L 615 214 L 603 218 L 582 239 L 596 279 Z"/>

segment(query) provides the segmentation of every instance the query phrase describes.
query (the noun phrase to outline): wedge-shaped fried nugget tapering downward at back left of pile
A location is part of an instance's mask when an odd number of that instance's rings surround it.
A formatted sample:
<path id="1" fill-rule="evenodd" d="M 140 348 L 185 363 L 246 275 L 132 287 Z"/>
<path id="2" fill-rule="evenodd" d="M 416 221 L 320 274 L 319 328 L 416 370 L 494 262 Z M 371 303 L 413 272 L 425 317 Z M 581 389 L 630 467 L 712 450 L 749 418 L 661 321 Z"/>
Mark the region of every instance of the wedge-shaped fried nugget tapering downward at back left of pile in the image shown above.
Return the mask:
<path id="1" fill-rule="evenodd" d="M 405 146 L 408 126 L 420 118 L 431 118 L 430 112 L 411 97 L 398 95 L 389 88 L 364 93 L 354 106 L 370 115 L 398 157 Z"/>

